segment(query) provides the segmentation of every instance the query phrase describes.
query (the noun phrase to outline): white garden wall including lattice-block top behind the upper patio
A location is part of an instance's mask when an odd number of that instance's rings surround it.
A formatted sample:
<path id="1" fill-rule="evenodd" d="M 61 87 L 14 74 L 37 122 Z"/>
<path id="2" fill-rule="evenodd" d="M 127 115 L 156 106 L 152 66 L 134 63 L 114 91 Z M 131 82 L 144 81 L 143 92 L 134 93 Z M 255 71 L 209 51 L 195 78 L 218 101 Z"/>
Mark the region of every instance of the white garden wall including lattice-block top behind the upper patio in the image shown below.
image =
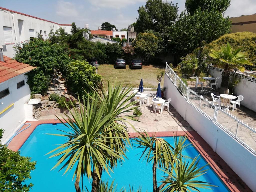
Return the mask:
<path id="1" fill-rule="evenodd" d="M 209 73 L 215 79 L 220 77 L 218 82 L 218 87 L 220 88 L 222 69 L 210 67 Z M 234 72 L 232 75 L 234 75 Z M 243 95 L 244 100 L 241 102 L 241 105 L 256 112 L 256 78 L 240 73 L 237 73 L 236 77 L 241 78 L 241 82 L 234 88 L 234 94 L 237 96 Z"/>

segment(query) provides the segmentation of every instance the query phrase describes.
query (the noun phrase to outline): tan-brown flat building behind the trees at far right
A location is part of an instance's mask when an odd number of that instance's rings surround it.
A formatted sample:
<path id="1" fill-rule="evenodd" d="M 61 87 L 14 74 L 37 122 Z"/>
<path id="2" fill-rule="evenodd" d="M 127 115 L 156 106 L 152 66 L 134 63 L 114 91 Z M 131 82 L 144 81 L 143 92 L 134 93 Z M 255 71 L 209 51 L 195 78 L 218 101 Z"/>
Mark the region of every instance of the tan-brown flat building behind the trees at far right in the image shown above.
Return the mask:
<path id="1" fill-rule="evenodd" d="M 256 14 L 231 17 L 231 33 L 249 31 L 256 33 Z"/>

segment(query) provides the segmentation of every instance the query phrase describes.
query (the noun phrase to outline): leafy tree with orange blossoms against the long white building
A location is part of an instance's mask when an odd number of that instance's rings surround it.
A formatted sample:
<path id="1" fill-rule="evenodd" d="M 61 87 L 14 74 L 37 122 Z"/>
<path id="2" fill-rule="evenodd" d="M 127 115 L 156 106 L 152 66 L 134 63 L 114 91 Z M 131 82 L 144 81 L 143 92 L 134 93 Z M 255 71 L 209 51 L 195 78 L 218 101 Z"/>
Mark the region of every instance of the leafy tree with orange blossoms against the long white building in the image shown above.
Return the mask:
<path id="1" fill-rule="evenodd" d="M 65 50 L 58 44 L 52 44 L 50 40 L 35 38 L 33 41 L 26 41 L 15 48 L 15 58 L 18 62 L 27 63 L 37 67 L 28 73 L 28 84 L 32 93 L 44 93 L 49 87 L 51 76 L 54 70 L 59 68 L 65 73 L 70 58 Z"/>

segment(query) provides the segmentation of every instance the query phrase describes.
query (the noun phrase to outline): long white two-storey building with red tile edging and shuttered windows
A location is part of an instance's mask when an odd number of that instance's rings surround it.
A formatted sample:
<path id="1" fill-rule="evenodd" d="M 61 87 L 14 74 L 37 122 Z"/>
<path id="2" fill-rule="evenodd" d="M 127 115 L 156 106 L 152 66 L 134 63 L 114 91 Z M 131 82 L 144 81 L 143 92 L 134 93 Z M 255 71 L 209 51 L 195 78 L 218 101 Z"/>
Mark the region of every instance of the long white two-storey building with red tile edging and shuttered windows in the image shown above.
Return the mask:
<path id="1" fill-rule="evenodd" d="M 7 57 L 14 57 L 13 47 L 17 44 L 36 37 L 37 33 L 47 39 L 51 28 L 55 32 L 60 27 L 65 28 L 67 34 L 71 34 L 69 24 L 58 24 L 0 7 L 0 47 L 6 45 L 4 55 Z"/>

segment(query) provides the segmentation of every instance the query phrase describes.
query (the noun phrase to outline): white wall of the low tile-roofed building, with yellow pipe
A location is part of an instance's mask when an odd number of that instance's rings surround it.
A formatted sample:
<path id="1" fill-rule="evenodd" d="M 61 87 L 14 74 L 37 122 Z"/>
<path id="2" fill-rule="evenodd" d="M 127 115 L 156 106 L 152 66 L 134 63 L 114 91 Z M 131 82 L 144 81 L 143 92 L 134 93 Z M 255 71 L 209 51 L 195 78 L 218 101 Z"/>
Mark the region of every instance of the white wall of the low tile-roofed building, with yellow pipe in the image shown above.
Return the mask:
<path id="1" fill-rule="evenodd" d="M 25 80 L 25 86 L 17 89 L 17 83 Z M 0 99 L 0 111 L 3 111 L 12 103 L 10 109 L 0 115 L 0 128 L 5 130 L 2 143 L 16 132 L 21 124 L 33 120 L 32 105 L 27 105 L 30 99 L 30 89 L 27 84 L 28 77 L 21 74 L 0 84 L 0 91 L 9 88 L 10 94 Z M 1 104 L 3 102 L 3 104 Z"/>

